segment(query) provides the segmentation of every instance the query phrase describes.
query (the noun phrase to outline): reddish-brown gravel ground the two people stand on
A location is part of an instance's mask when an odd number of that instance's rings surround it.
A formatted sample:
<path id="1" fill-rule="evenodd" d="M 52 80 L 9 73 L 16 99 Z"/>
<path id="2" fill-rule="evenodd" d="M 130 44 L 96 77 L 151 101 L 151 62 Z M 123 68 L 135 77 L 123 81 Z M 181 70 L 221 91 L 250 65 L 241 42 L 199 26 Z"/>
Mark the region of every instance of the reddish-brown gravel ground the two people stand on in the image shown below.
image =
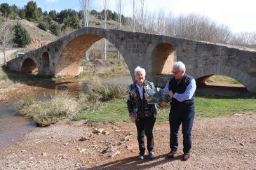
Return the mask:
<path id="1" fill-rule="evenodd" d="M 136 128 L 131 122 L 62 121 L 33 128 L 16 144 L 0 150 L 0 170 L 256 170 L 256 112 L 212 119 L 196 118 L 191 158 L 180 147 L 169 152 L 168 122 L 154 126 L 154 160 L 137 160 Z"/>

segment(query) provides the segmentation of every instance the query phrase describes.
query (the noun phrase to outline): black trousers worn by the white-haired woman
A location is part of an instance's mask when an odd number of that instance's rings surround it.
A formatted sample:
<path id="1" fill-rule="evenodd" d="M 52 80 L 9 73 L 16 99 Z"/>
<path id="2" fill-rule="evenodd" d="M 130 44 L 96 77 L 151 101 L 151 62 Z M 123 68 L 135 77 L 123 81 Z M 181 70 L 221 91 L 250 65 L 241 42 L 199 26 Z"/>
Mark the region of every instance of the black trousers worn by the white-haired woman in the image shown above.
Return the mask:
<path id="1" fill-rule="evenodd" d="M 137 138 L 139 144 L 140 155 L 145 153 L 144 136 L 147 137 L 148 152 L 154 151 L 153 127 L 155 118 L 154 116 L 139 118 L 136 120 Z"/>

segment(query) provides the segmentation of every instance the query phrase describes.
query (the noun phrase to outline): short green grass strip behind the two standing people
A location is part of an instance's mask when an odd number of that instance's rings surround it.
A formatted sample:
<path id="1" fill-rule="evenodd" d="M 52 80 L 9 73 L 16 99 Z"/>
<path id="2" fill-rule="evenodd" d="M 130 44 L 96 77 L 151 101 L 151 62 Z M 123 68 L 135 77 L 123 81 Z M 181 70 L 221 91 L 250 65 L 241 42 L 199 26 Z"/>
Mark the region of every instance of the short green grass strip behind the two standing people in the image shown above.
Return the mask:
<path id="1" fill-rule="evenodd" d="M 218 117 L 228 114 L 242 113 L 245 111 L 256 110 L 256 98 L 204 98 L 196 97 L 196 116 L 197 117 Z M 157 121 L 168 121 L 170 106 L 159 107 L 160 113 Z M 75 115 L 73 120 L 78 121 L 88 119 L 92 122 L 115 122 L 130 121 L 126 105 L 126 98 L 114 99 L 105 102 L 93 111 L 83 112 Z"/>

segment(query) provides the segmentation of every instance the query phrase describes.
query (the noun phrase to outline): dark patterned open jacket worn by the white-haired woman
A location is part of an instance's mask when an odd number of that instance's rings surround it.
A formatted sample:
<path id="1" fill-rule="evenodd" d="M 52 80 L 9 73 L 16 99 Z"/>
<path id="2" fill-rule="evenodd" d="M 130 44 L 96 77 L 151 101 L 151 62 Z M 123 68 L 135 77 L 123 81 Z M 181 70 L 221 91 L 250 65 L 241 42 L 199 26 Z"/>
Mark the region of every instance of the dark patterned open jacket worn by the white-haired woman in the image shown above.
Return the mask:
<path id="1" fill-rule="evenodd" d="M 137 87 L 137 82 L 135 81 L 130 85 L 130 91 L 129 91 L 129 96 L 127 100 L 127 106 L 128 106 L 128 112 L 129 115 L 131 114 L 136 114 L 137 119 L 143 118 L 143 117 L 149 117 L 154 115 L 156 117 L 158 113 L 158 108 L 156 104 L 148 104 L 148 101 L 144 97 L 145 93 L 145 87 L 150 87 L 154 88 L 154 83 L 144 80 L 143 83 L 143 99 L 141 99 L 138 87 Z"/>

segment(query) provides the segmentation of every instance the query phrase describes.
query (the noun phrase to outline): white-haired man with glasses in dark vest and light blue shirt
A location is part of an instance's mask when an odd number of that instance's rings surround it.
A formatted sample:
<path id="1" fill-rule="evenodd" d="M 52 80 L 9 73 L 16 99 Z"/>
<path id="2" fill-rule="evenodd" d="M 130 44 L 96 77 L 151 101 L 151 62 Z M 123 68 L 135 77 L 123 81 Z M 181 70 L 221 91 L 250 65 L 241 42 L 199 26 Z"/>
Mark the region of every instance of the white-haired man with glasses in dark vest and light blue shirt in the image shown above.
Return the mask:
<path id="1" fill-rule="evenodd" d="M 174 63 L 172 70 L 174 77 L 167 82 L 164 91 L 165 94 L 172 98 L 169 113 L 171 151 L 167 157 L 172 158 L 177 153 L 178 130 L 180 125 L 182 125 L 183 160 L 188 160 L 192 145 L 191 130 L 195 115 L 194 93 L 196 82 L 193 77 L 185 74 L 185 71 L 186 67 L 184 63 L 181 61 Z"/>

